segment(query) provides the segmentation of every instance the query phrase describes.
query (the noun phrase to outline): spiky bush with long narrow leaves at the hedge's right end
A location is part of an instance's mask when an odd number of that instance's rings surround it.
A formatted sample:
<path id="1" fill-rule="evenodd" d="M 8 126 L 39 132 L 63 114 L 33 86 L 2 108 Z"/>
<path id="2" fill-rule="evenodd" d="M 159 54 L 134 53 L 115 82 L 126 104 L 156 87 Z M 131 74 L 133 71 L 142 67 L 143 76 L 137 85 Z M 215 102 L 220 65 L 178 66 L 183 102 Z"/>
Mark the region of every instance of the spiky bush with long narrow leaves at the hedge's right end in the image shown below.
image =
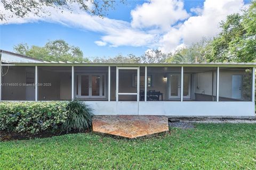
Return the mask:
<path id="1" fill-rule="evenodd" d="M 63 131 L 83 131 L 92 126 L 92 109 L 82 101 L 70 101 L 67 105 L 68 118 L 62 125 Z"/>

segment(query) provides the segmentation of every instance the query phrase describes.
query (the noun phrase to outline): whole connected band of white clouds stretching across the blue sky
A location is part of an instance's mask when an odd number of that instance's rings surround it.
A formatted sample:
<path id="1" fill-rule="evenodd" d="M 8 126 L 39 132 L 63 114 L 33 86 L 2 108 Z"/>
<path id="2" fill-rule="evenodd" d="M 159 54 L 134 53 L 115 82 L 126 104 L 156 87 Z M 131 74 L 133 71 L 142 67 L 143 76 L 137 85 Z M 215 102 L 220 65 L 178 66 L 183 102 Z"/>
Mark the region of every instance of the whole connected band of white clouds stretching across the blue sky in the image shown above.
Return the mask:
<path id="1" fill-rule="evenodd" d="M 26 18 L 10 18 L 10 23 L 57 22 L 68 27 L 99 32 L 101 38 L 94 41 L 98 46 L 146 46 L 159 48 L 165 53 L 191 45 L 202 37 L 213 37 L 220 31 L 219 22 L 231 13 L 244 7 L 243 0 L 206 0 L 202 7 L 191 8 L 195 16 L 190 16 L 183 7 L 183 1 L 151 0 L 138 5 L 131 11 L 131 22 L 109 18 L 99 18 L 79 10 L 63 13 L 55 8 L 45 7 L 51 15 L 43 17 L 29 14 Z M 0 5 L 3 11 L 3 6 Z M 11 13 L 5 11 L 7 16 Z"/>

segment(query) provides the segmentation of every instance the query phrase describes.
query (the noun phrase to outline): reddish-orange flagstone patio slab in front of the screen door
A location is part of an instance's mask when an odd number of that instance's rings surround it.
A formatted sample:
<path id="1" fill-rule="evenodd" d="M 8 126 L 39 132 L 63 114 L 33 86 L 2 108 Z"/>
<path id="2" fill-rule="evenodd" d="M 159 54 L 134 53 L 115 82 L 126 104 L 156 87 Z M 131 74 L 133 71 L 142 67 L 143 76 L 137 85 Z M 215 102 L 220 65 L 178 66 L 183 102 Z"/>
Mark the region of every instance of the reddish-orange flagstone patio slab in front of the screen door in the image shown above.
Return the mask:
<path id="1" fill-rule="evenodd" d="M 166 132 L 169 127 L 166 116 L 107 115 L 93 116 L 92 130 L 125 138 L 137 138 Z"/>

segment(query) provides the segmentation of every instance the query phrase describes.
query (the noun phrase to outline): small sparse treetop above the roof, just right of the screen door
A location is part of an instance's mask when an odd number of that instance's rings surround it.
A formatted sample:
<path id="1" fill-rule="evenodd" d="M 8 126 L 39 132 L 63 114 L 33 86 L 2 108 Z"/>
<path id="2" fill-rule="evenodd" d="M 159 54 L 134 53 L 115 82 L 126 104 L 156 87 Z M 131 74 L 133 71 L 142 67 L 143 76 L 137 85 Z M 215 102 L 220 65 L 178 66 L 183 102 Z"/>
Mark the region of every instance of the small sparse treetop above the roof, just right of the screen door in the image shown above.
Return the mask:
<path id="1" fill-rule="evenodd" d="M 164 63 L 167 55 L 162 53 L 161 50 L 149 49 L 141 56 L 142 63 Z"/>

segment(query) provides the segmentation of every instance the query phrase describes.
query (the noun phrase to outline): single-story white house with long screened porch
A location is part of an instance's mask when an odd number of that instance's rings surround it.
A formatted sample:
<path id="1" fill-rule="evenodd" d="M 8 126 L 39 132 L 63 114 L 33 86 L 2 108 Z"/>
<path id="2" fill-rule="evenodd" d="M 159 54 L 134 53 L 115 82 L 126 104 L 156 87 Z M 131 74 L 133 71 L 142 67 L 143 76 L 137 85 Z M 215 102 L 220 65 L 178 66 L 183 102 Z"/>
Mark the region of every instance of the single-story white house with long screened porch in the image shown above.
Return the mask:
<path id="1" fill-rule="evenodd" d="M 1 101 L 78 99 L 95 115 L 255 116 L 256 63 L 65 63 L 0 53 Z"/>

